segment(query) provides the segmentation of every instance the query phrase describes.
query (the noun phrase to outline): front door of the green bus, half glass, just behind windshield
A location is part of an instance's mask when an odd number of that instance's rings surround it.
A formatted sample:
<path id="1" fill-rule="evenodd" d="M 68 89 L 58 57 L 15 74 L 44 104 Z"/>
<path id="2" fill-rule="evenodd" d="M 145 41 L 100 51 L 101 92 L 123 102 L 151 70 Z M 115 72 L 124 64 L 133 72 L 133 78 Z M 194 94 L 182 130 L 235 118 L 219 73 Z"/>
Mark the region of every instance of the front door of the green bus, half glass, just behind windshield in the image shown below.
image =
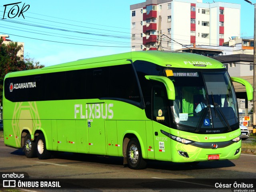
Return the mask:
<path id="1" fill-rule="evenodd" d="M 170 133 L 170 101 L 165 87 L 154 86 L 152 89 L 152 120 L 154 151 L 156 160 L 171 160 L 170 138 L 160 130 Z"/>

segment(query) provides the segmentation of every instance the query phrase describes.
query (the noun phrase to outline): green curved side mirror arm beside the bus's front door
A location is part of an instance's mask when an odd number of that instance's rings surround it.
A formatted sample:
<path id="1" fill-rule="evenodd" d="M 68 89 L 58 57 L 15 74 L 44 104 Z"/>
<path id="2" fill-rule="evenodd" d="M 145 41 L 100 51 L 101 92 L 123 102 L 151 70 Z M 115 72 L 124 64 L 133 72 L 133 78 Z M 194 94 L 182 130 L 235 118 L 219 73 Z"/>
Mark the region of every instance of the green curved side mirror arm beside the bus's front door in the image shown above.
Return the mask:
<path id="1" fill-rule="evenodd" d="M 164 77 L 164 76 L 151 76 L 151 75 L 146 75 L 145 78 L 147 80 L 155 80 L 155 81 L 162 82 L 164 84 L 164 86 L 166 87 L 168 99 L 175 100 L 174 84 L 169 78 Z"/>

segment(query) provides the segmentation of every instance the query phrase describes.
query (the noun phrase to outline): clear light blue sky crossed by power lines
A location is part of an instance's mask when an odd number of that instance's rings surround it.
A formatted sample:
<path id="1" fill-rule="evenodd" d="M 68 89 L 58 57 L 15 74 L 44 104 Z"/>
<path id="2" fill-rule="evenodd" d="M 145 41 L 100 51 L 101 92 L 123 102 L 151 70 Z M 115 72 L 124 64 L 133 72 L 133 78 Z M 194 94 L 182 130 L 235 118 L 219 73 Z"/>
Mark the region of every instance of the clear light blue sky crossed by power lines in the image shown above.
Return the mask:
<path id="1" fill-rule="evenodd" d="M 1 0 L 0 34 L 24 42 L 24 56 L 45 66 L 129 52 L 130 5 L 145 1 Z M 241 4 L 240 36 L 254 35 L 253 5 L 244 0 L 214 1 Z"/>

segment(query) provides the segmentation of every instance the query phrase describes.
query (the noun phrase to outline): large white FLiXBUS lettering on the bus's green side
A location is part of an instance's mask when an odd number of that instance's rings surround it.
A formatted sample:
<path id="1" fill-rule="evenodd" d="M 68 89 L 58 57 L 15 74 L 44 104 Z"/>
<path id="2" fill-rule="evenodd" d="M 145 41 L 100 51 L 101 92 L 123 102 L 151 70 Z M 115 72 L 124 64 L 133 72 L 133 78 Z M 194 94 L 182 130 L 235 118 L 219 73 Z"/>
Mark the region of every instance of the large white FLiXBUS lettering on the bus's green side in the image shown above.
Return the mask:
<path id="1" fill-rule="evenodd" d="M 74 106 L 74 118 L 80 115 L 81 119 L 112 119 L 114 116 L 114 112 L 111 109 L 114 104 L 103 104 L 103 103 L 95 103 L 95 104 L 75 104 Z"/>

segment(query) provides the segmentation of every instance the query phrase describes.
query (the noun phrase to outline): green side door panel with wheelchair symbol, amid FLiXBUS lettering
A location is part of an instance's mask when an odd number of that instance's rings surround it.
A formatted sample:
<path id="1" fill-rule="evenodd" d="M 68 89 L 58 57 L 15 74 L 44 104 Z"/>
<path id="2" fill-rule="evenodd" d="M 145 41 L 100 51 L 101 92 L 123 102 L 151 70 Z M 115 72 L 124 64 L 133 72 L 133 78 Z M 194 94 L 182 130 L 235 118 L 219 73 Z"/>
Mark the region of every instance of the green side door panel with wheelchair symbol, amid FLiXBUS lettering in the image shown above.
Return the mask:
<path id="1" fill-rule="evenodd" d="M 101 101 L 101 102 L 99 102 Z M 90 99 L 87 103 L 88 145 L 90 154 L 106 155 L 105 103 Z"/>

